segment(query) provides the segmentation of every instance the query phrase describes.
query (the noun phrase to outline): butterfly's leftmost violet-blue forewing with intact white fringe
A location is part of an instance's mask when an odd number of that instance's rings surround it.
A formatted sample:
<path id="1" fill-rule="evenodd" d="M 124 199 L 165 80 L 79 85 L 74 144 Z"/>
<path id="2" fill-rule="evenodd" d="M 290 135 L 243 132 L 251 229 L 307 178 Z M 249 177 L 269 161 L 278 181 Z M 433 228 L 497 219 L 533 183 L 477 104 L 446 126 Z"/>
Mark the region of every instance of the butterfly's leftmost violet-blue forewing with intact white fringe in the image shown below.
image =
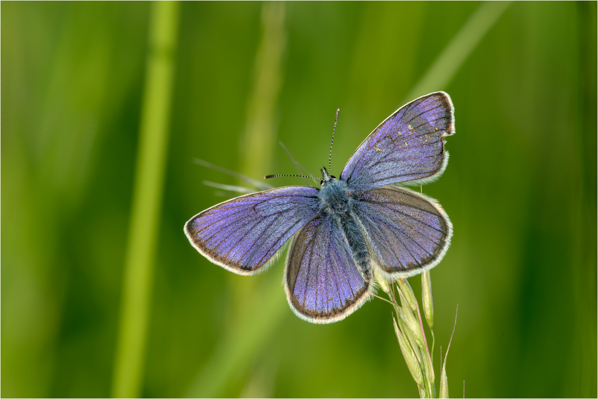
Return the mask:
<path id="1" fill-rule="evenodd" d="M 318 212 L 317 196 L 316 188 L 291 186 L 237 197 L 195 215 L 185 234 L 213 263 L 252 275 L 266 269 Z"/>

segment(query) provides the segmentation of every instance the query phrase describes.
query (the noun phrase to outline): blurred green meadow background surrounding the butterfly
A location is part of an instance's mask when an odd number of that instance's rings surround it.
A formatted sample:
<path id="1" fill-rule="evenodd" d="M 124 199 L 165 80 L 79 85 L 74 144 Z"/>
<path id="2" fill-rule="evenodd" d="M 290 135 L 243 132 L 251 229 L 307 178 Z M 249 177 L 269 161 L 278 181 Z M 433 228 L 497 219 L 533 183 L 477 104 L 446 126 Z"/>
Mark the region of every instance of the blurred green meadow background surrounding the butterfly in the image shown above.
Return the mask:
<path id="1" fill-rule="evenodd" d="M 596 397 L 596 2 L 163 6 L 2 2 L 2 396 L 416 396 L 388 303 L 309 324 L 286 304 L 282 261 L 233 275 L 182 227 L 225 199 L 204 179 L 239 184 L 194 158 L 294 173 L 281 140 L 317 172 L 340 107 L 338 173 L 398 106 L 445 90 L 456 135 L 423 191 L 454 224 L 432 270 L 437 348 L 459 304 L 451 395 L 465 380 L 468 397 Z M 175 50 L 152 47 L 152 29 Z M 172 68 L 166 95 L 148 89 L 152 60 Z M 168 121 L 157 171 L 144 169 L 151 153 L 137 160 L 154 115 Z M 154 197 L 134 194 L 144 173 Z M 118 391 L 131 209 L 144 201 L 155 233 L 137 237 L 154 251 L 130 310 L 147 312 L 147 338 L 132 390 Z"/>

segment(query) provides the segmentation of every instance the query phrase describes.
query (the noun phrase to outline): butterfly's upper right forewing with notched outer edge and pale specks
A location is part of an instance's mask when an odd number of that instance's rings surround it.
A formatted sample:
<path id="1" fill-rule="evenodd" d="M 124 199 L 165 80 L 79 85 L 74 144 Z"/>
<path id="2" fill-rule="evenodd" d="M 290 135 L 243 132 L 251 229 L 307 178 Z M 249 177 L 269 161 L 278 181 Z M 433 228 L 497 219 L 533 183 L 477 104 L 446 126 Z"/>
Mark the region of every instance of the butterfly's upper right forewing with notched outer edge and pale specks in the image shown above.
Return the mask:
<path id="1" fill-rule="evenodd" d="M 388 184 L 423 184 L 438 178 L 449 154 L 444 137 L 454 133 L 453 103 L 444 92 L 402 106 L 386 118 L 350 157 L 341 179 L 356 191 Z"/>

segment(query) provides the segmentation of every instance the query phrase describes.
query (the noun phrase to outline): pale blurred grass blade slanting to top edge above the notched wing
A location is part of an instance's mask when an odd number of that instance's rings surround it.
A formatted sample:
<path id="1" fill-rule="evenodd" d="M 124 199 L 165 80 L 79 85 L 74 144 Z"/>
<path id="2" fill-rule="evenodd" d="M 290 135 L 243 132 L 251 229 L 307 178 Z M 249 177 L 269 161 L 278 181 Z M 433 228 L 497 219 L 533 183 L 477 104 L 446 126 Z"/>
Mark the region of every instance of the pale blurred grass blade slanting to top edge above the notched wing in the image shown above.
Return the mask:
<path id="1" fill-rule="evenodd" d="M 420 96 L 444 90 L 463 62 L 507 10 L 510 1 L 484 1 L 457 32 L 401 105 Z"/>

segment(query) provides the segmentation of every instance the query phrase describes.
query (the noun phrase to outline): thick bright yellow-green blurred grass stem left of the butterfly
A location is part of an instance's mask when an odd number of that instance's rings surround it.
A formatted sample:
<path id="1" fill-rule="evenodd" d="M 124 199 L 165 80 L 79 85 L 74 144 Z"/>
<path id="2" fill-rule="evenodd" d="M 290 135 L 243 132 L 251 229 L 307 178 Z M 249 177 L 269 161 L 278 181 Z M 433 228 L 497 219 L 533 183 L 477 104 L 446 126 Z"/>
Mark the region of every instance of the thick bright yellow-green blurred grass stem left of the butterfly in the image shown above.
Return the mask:
<path id="1" fill-rule="evenodd" d="M 178 2 L 151 4 L 149 56 L 123 273 L 112 395 L 138 397 L 168 147 Z"/>

